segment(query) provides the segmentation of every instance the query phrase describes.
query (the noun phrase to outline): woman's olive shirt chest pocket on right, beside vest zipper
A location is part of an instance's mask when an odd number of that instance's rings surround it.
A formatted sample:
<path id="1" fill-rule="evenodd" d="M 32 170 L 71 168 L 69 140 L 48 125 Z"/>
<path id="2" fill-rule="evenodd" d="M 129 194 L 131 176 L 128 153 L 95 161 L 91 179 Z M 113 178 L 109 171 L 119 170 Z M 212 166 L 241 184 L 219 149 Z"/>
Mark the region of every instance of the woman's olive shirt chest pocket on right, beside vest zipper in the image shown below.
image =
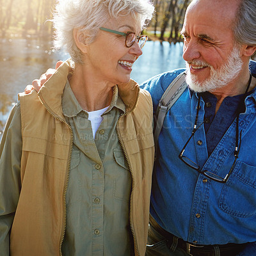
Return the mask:
<path id="1" fill-rule="evenodd" d="M 113 156 L 118 168 L 116 169 L 115 179 L 113 180 L 113 193 L 114 198 L 117 200 L 122 200 L 129 202 L 131 193 L 131 173 L 129 172 L 128 164 L 124 156 L 122 149 L 114 148 Z"/>

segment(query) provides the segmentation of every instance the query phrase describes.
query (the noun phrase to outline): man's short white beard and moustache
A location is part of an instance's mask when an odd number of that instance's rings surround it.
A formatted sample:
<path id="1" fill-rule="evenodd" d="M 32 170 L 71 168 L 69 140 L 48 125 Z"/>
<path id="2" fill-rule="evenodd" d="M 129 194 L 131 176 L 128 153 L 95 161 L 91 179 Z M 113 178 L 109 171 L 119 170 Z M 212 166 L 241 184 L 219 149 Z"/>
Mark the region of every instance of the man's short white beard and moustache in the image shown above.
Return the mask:
<path id="1" fill-rule="evenodd" d="M 196 81 L 196 76 L 190 73 L 189 64 L 210 67 L 210 76 L 202 83 L 199 83 Z M 239 49 L 235 46 L 230 53 L 230 56 L 228 56 L 227 63 L 218 70 L 214 70 L 208 63 L 200 60 L 186 62 L 186 82 L 188 83 L 189 88 L 194 92 L 209 92 L 216 90 L 217 88 L 226 86 L 235 79 L 241 71 L 242 65 L 243 62 L 239 57 Z"/>

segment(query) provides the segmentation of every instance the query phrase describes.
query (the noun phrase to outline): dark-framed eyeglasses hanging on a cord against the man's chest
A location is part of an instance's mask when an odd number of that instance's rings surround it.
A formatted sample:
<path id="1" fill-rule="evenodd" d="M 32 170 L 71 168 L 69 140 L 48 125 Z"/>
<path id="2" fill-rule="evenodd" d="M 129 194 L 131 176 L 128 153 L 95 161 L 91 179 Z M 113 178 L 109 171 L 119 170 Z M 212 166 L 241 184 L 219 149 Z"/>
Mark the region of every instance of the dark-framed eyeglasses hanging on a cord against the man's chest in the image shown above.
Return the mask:
<path id="1" fill-rule="evenodd" d="M 248 90 L 246 90 L 247 92 Z M 197 107 L 196 107 L 196 120 L 195 120 L 195 125 L 193 127 L 193 131 L 192 131 L 192 134 L 191 136 L 189 137 L 188 141 L 185 143 L 184 147 L 182 148 L 182 150 L 180 151 L 180 154 L 179 154 L 179 159 L 187 164 L 189 167 L 193 168 L 194 170 L 196 170 L 197 172 L 205 175 L 207 178 L 211 179 L 211 180 L 214 180 L 216 182 L 221 182 L 221 183 L 226 183 L 228 178 L 230 177 L 231 173 L 233 172 L 234 170 L 234 166 L 236 164 L 236 161 L 237 161 L 237 158 L 238 158 L 238 154 L 239 154 L 239 150 L 240 150 L 240 146 L 241 146 L 241 134 L 242 134 L 242 131 L 240 132 L 240 140 L 238 140 L 238 137 L 239 137 L 239 128 L 238 128 L 238 124 L 239 124 L 239 114 L 237 114 L 237 120 L 236 120 L 236 147 L 235 147 L 235 151 L 234 151 L 234 157 L 235 157 L 235 160 L 234 160 L 234 163 L 232 164 L 231 168 L 230 168 L 230 171 L 228 172 L 228 174 L 226 175 L 225 178 L 221 178 L 220 176 L 216 175 L 215 173 L 212 173 L 212 172 L 209 172 L 207 170 L 205 171 L 201 171 L 200 170 L 200 166 L 198 164 L 196 164 L 195 162 L 193 162 L 191 159 L 189 159 L 188 157 L 186 156 L 183 156 L 184 154 L 184 151 L 185 151 L 185 148 L 187 147 L 189 141 L 191 140 L 191 138 L 195 135 L 195 132 L 198 130 L 198 128 L 204 124 L 204 122 L 202 122 L 202 124 L 198 125 L 198 127 L 196 127 L 197 125 L 197 120 L 198 120 L 198 112 L 199 112 L 199 108 L 200 108 L 200 95 L 198 96 L 198 104 L 197 104 Z M 238 146 L 238 141 L 240 141 L 239 143 L 239 146 Z"/>

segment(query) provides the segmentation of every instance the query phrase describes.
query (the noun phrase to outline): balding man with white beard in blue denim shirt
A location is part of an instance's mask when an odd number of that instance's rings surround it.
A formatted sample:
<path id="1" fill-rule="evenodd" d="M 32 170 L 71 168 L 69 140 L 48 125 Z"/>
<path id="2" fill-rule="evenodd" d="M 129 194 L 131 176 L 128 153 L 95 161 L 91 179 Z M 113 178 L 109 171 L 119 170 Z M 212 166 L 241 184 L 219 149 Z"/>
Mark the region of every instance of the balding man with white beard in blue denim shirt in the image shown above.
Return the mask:
<path id="1" fill-rule="evenodd" d="M 255 12 L 255 0 L 188 7 L 188 88 L 159 134 L 147 255 L 256 255 Z M 142 85 L 154 111 L 182 71 Z"/>

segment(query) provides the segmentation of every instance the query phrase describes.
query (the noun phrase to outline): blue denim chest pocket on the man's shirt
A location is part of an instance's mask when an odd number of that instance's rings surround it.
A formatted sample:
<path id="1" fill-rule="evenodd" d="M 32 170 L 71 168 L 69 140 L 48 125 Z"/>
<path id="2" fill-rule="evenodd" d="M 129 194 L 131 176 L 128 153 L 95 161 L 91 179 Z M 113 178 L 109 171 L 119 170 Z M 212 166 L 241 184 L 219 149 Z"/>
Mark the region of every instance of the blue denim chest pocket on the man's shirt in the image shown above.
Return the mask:
<path id="1" fill-rule="evenodd" d="M 219 207 L 234 216 L 256 215 L 256 166 L 237 161 L 232 175 L 221 190 Z"/>

